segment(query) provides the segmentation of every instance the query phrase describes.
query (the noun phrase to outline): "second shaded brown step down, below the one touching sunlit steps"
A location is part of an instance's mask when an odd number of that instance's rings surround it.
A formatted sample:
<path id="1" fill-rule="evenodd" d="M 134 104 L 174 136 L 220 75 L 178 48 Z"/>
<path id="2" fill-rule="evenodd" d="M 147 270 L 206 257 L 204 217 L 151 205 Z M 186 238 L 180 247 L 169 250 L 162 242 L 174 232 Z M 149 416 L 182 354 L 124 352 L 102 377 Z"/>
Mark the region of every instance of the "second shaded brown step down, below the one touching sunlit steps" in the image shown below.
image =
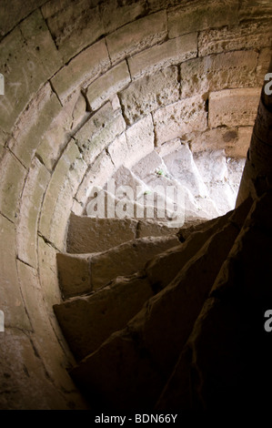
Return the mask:
<path id="1" fill-rule="evenodd" d="M 99 253 L 59 253 L 56 258 L 60 288 L 67 298 L 104 287 L 117 276 L 142 270 L 147 260 L 178 243 L 175 235 L 169 235 L 132 239 Z"/>

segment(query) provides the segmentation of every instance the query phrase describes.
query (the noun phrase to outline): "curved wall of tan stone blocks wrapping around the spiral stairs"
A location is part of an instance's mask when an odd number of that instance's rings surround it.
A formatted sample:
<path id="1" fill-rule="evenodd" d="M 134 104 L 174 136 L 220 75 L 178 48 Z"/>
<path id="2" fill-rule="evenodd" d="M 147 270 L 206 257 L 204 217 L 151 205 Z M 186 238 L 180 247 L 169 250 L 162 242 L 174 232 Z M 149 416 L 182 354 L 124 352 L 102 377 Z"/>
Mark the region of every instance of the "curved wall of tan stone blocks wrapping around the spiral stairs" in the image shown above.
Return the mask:
<path id="1" fill-rule="evenodd" d="M 245 157 L 271 55 L 269 1 L 4 1 L 0 408 L 85 408 L 52 311 L 55 252 L 90 183 L 154 148 Z"/>

